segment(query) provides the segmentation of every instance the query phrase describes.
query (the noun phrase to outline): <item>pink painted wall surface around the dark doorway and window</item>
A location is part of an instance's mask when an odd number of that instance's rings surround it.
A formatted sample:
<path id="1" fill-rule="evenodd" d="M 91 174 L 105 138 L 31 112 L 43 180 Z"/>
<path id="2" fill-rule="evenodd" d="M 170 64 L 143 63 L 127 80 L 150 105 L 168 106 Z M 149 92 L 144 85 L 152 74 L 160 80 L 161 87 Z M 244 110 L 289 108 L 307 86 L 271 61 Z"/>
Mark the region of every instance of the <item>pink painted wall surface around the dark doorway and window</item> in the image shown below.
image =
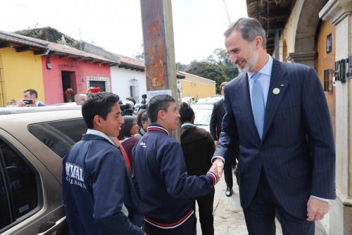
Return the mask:
<path id="1" fill-rule="evenodd" d="M 47 62 L 51 64 L 50 70 L 46 68 Z M 58 58 L 58 56 L 51 56 L 48 61 L 46 56 L 42 56 L 42 69 L 46 104 L 64 102 L 61 71 L 74 72 L 72 80 L 75 94 L 87 91 L 87 77 L 107 78 L 108 87 L 106 89 L 111 91 L 111 72 L 110 67 L 106 65 L 73 61 L 70 58 Z"/>

